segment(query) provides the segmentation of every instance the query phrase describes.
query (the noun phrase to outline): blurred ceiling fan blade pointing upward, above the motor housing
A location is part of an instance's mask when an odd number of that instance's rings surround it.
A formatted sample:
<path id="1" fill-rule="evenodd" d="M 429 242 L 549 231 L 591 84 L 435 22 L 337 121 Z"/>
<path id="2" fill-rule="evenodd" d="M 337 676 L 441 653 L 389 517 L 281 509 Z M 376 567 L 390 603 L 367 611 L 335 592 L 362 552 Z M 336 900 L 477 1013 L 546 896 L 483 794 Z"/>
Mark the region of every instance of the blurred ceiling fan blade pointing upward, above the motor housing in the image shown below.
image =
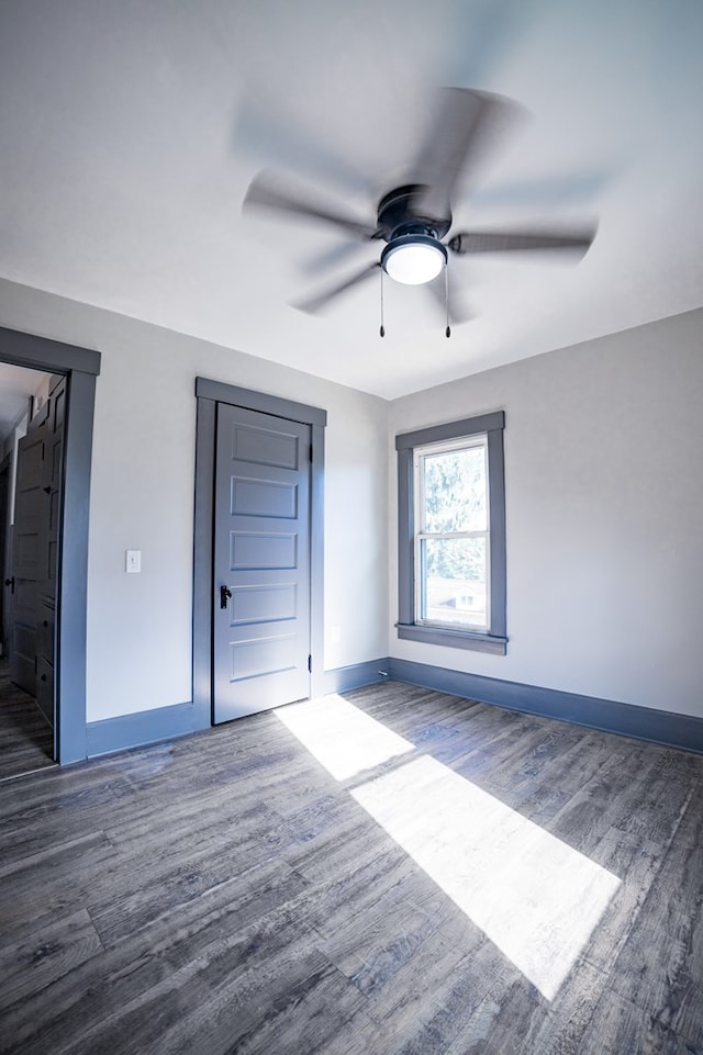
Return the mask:
<path id="1" fill-rule="evenodd" d="M 413 180 L 426 191 L 419 207 L 424 216 L 450 213 L 455 184 L 470 176 L 489 147 L 522 109 L 502 96 L 467 88 L 443 88 L 438 112 L 415 162 Z"/>

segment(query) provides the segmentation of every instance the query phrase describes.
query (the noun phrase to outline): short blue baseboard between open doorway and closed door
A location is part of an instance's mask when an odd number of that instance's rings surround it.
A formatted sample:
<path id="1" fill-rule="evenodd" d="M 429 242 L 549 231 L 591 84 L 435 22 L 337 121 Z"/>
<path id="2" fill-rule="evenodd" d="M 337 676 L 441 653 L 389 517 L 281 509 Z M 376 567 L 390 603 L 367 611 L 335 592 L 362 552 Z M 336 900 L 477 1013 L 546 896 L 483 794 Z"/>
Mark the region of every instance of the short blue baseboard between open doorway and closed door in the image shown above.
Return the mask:
<path id="1" fill-rule="evenodd" d="M 89 721 L 88 757 L 143 748 L 160 740 L 174 740 L 204 728 L 210 728 L 210 721 L 203 725 L 199 708 L 192 704 L 174 704 L 155 710 L 104 718 L 102 721 Z"/>

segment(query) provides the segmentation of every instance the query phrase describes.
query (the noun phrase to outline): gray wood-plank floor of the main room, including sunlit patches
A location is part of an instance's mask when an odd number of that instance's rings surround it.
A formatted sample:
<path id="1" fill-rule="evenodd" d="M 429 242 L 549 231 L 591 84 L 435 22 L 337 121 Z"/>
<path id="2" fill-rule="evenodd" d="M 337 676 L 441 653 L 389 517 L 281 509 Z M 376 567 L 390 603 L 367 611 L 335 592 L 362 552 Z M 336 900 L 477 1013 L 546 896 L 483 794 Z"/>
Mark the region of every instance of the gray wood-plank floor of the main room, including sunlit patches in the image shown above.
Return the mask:
<path id="1" fill-rule="evenodd" d="M 703 756 L 386 683 L 0 785 L 0 1051 L 693 1055 Z"/>

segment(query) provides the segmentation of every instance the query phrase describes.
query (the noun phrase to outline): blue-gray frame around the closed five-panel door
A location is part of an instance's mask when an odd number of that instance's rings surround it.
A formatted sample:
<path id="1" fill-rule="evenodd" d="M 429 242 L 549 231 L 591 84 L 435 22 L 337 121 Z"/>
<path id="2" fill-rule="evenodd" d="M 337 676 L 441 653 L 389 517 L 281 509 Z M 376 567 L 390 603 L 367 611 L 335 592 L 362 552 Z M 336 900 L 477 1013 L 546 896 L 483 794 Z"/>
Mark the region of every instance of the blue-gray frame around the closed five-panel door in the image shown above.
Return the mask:
<path id="1" fill-rule="evenodd" d="M 327 412 L 253 389 L 196 378 L 196 524 L 193 536 L 193 705 L 202 726 L 212 722 L 213 527 L 216 404 L 228 403 L 310 425 L 310 649 L 312 696 L 324 692 L 324 436 Z"/>

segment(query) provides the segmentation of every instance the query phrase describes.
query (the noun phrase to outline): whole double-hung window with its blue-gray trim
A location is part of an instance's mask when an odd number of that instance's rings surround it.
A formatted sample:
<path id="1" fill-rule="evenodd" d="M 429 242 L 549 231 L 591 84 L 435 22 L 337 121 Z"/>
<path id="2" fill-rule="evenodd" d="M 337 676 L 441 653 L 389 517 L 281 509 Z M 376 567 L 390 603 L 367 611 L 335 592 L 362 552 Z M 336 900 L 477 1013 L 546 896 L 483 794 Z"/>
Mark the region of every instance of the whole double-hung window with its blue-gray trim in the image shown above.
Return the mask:
<path id="1" fill-rule="evenodd" d="M 398 436 L 398 636 L 505 654 L 504 414 Z"/>

